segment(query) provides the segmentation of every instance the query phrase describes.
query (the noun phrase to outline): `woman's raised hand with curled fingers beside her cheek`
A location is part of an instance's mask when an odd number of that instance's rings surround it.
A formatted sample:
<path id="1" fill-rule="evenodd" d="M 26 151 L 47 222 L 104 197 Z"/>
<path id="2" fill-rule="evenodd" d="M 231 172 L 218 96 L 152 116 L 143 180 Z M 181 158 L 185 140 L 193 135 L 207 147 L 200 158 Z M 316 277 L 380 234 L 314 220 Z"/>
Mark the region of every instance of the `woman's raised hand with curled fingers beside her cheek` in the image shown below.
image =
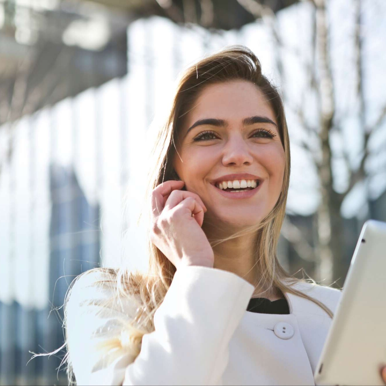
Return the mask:
<path id="1" fill-rule="evenodd" d="M 213 250 L 201 229 L 207 208 L 195 193 L 178 190 L 183 186 L 183 181 L 165 181 L 153 190 L 151 241 L 177 269 L 213 267 Z"/>

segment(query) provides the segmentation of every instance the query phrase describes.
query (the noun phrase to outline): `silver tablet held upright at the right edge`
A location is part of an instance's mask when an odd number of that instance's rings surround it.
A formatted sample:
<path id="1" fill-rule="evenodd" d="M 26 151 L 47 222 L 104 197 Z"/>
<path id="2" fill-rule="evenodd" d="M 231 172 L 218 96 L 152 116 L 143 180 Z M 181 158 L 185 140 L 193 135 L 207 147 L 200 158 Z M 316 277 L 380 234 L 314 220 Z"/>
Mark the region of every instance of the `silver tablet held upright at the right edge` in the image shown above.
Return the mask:
<path id="1" fill-rule="evenodd" d="M 386 223 L 364 223 L 318 365 L 318 385 L 384 386 Z"/>

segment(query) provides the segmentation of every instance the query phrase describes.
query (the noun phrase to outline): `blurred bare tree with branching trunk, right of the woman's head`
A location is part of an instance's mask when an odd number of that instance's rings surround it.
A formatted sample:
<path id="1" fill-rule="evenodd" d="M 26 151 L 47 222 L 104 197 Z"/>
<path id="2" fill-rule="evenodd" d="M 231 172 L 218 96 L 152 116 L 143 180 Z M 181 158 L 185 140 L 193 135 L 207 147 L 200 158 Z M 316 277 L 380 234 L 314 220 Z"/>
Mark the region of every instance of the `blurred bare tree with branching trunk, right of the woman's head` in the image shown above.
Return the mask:
<path id="1" fill-rule="evenodd" d="M 237 0 L 246 10 L 251 12 L 256 18 L 262 19 L 266 26 L 271 30 L 271 34 L 276 43 L 276 62 L 279 74 L 283 76 L 283 59 L 280 49 L 289 49 L 281 39 L 278 30 L 278 21 L 274 12 L 267 6 L 262 5 L 256 0 Z M 312 63 L 305 63 L 305 74 L 308 79 L 308 92 L 315 92 L 318 104 L 318 125 L 312 127 L 306 122 L 303 106 L 292 106 L 290 98 L 286 96 L 284 90 L 284 103 L 296 113 L 298 119 L 303 125 L 306 137 L 317 137 L 318 149 L 311 148 L 307 141 L 302 141 L 300 145 L 310 152 L 315 163 L 319 186 L 320 203 L 316 212 L 315 247 L 310 249 L 310 245 L 301 240 L 298 229 L 287 219 L 283 226 L 283 236 L 286 237 L 295 247 L 300 257 L 310 261 L 312 256 L 315 258 L 317 280 L 324 280 L 326 283 L 332 283 L 335 279 L 339 286 L 343 285 L 345 275 L 347 274 L 347 262 L 344 261 L 344 224 L 340 215 L 342 202 L 350 193 L 354 186 L 363 182 L 368 185 L 371 175 L 366 170 L 366 161 L 369 158 L 370 151 L 368 147 L 369 138 L 383 123 L 386 115 L 386 103 L 378 119 L 374 124 L 369 125 L 366 120 L 366 98 L 364 96 L 364 76 L 363 76 L 363 33 L 362 33 L 362 9 L 361 0 L 355 1 L 355 52 L 356 60 L 352 63 L 356 67 L 357 78 L 357 98 L 359 100 L 358 118 L 361 123 L 363 135 L 363 151 L 359 168 L 354 169 L 349 162 L 349 152 L 343 150 L 343 154 L 334 154 L 331 147 L 331 133 L 335 132 L 344 142 L 344 132 L 340 124 L 340 118 L 337 117 L 337 107 L 335 105 L 334 91 L 335 84 L 332 76 L 332 58 L 330 53 L 330 20 L 328 20 L 327 1 L 326 0 L 308 0 L 313 8 L 313 56 Z M 295 52 L 296 53 L 296 52 Z M 306 95 L 303 94 L 303 98 Z M 343 192 L 337 192 L 334 189 L 333 163 L 334 157 L 342 156 L 345 159 L 347 173 L 349 174 L 349 183 Z M 368 192 L 367 192 L 368 200 Z M 362 218 L 366 220 L 366 214 Z"/>

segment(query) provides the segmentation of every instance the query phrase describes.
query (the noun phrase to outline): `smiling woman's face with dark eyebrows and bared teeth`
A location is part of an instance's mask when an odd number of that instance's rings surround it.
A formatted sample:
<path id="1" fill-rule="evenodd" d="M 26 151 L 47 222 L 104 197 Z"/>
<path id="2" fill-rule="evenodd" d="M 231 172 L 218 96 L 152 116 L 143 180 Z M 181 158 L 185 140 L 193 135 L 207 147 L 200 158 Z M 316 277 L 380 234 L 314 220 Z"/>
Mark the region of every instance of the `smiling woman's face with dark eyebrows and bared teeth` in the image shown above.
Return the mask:
<path id="1" fill-rule="evenodd" d="M 251 82 L 203 89 L 178 134 L 173 166 L 186 190 L 205 203 L 206 219 L 244 227 L 273 209 L 285 164 L 276 125 L 269 103 Z"/>

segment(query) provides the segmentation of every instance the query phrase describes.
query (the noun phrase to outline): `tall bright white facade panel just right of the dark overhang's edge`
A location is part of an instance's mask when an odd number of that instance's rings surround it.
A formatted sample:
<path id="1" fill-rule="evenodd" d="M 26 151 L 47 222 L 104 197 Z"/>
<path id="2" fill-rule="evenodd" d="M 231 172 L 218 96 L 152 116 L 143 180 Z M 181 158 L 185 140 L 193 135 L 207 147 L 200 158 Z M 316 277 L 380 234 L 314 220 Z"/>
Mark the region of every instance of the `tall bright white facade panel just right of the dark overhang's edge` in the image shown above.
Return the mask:
<path id="1" fill-rule="evenodd" d="M 146 77 L 149 68 L 146 53 L 147 23 L 137 20 L 130 25 L 127 32 L 129 46 L 129 73 L 125 78 L 127 99 L 127 162 L 129 180 L 125 191 L 125 212 L 127 228 L 124 229 L 123 257 L 129 269 L 147 267 L 146 247 L 144 244 L 145 229 L 137 226 L 139 213 L 143 209 L 144 188 L 148 164 L 149 138 L 148 110 L 146 108 Z"/>

